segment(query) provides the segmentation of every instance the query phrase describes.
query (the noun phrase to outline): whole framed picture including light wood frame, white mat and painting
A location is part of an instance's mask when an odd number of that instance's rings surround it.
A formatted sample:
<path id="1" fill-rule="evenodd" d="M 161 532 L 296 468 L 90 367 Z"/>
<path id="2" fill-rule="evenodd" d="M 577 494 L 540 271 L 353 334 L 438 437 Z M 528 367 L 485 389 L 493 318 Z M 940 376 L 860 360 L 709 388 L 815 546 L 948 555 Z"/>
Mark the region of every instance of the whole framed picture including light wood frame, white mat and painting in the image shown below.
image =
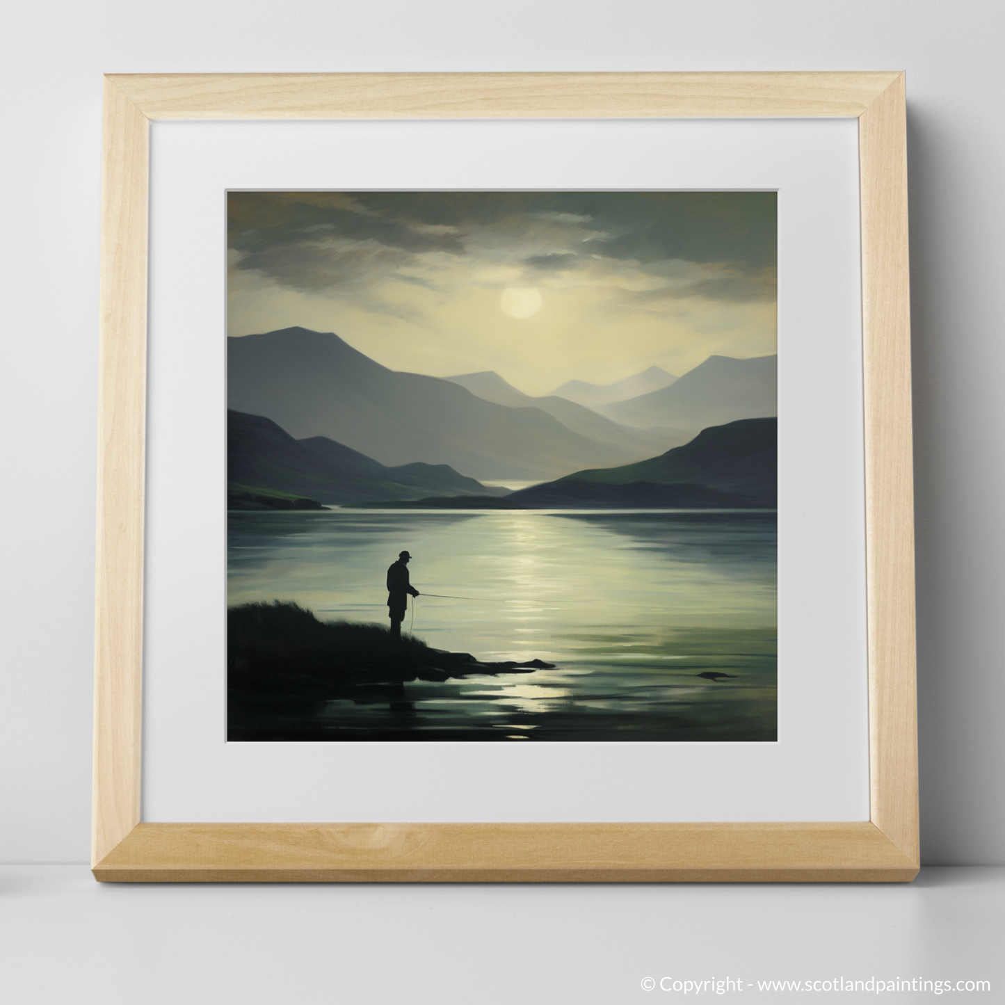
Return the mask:
<path id="1" fill-rule="evenodd" d="M 150 119 L 255 120 L 261 137 L 249 147 L 251 123 L 238 135 L 205 122 L 198 154 L 179 157 L 169 127 L 148 191 Z M 341 147 L 283 120 L 341 120 Z M 381 120 L 387 136 L 409 131 L 405 146 L 404 134 L 382 146 Z M 897 73 L 108 77 L 95 876 L 911 879 L 903 124 Z M 368 153 L 355 175 L 290 170 L 311 144 L 328 164 L 334 150 Z M 622 167 L 577 174 L 598 146 L 623 151 Z M 691 148 L 706 160 L 685 170 L 674 152 Z M 649 155 L 646 173 L 636 165 Z M 270 157 L 272 176 L 233 167 Z M 536 158 L 559 166 L 527 168 Z M 226 206 L 200 203 L 195 185 L 185 194 L 177 180 L 193 161 L 219 166 L 203 189 Z M 774 166 L 750 167 L 762 161 Z M 148 435 L 148 207 L 155 236 L 174 230 L 190 247 L 200 220 L 229 210 L 226 706 L 214 696 L 224 660 L 218 676 L 213 657 L 196 673 L 156 613 L 177 579 L 158 556 L 179 523 L 158 498 L 180 497 L 165 486 L 183 470 L 158 460 L 170 452 L 162 374 L 187 368 L 193 412 L 222 412 L 212 381 L 194 391 L 191 375 L 207 369 L 199 346 L 222 347 L 223 333 L 204 328 L 197 345 L 181 314 L 152 316 Z M 217 226 L 199 239 L 211 245 Z M 776 243 L 788 388 L 777 408 Z M 151 245 L 155 265 L 169 245 Z M 800 258 L 819 258 L 826 281 Z M 222 303 L 212 265 L 195 271 Z M 151 275 L 155 304 L 200 295 L 166 296 L 178 287 Z M 178 336 L 170 351 L 158 325 Z M 800 367 L 816 376 L 793 379 Z M 345 386 L 312 398 L 319 380 Z M 296 546 L 305 534 L 310 549 Z M 797 552 L 815 569 L 800 572 Z M 793 603 L 800 594 L 812 602 Z M 222 601 L 205 616 L 222 625 Z M 164 738 L 183 734 L 165 755 Z M 685 748 L 700 798 L 659 785 Z M 238 758 L 214 774 L 218 750 L 253 752 L 258 768 Z M 176 762 L 188 775 L 164 770 Z M 796 762 L 809 768 L 794 774 Z M 759 779 L 769 764 L 772 780 Z M 840 779 L 859 764 L 859 802 L 842 803 Z M 244 784 L 235 770 L 271 773 L 284 809 L 227 802 Z M 586 794 L 549 798 L 529 772 Z M 468 797 L 451 805 L 416 784 L 422 773 Z M 661 797 L 615 796 L 645 773 Z M 190 802 L 168 809 L 151 795 L 186 788 Z M 801 809 L 786 802 L 793 790 Z M 165 822 L 179 819 L 202 822 Z"/>

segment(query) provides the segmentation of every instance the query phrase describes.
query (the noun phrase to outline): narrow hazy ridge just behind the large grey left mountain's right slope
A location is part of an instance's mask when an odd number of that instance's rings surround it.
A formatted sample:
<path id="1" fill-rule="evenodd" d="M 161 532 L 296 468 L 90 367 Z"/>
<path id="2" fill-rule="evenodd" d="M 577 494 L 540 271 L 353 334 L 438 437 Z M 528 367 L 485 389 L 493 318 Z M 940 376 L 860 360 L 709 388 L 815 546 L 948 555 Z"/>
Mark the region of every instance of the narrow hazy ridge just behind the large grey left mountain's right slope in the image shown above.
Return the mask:
<path id="1" fill-rule="evenodd" d="M 493 370 L 445 377 L 444 380 L 466 387 L 471 394 L 496 405 L 507 405 L 509 408 L 540 408 L 541 411 L 558 419 L 567 429 L 640 458 L 651 454 L 653 450 L 686 443 L 690 438 L 686 432 L 672 429 L 661 429 L 658 432 L 632 429 L 618 422 L 612 422 L 583 405 L 577 405 L 574 401 L 555 395 L 532 398 L 523 391 L 518 391 Z"/>

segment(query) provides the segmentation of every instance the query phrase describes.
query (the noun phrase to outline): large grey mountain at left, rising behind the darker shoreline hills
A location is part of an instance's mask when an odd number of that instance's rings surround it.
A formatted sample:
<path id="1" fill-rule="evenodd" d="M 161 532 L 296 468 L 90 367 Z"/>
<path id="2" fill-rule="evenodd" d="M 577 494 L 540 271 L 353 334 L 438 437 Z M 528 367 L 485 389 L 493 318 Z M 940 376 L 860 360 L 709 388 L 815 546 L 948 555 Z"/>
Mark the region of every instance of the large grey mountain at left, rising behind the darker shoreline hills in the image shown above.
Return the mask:
<path id="1" fill-rule="evenodd" d="M 479 478 L 537 479 L 638 456 L 539 408 L 510 408 L 450 381 L 389 370 L 331 333 L 288 328 L 227 343 L 230 408 L 381 464 L 424 461 Z"/>

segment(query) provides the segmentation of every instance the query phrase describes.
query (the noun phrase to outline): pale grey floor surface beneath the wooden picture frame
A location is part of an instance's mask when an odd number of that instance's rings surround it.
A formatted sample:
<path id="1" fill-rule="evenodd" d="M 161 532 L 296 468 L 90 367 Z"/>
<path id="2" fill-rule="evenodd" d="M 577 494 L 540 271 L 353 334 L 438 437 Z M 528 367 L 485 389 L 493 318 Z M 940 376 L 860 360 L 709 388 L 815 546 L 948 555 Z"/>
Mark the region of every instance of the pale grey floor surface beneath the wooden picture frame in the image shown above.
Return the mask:
<path id="1" fill-rule="evenodd" d="M 1005 867 L 930 867 L 910 885 L 491 887 L 116 885 L 79 865 L 0 867 L 10 1005 L 941 997 L 757 985 L 835 978 L 990 981 L 951 1000 L 1001 1002 L 1003 936 Z M 673 986 L 727 978 L 742 990 Z"/>

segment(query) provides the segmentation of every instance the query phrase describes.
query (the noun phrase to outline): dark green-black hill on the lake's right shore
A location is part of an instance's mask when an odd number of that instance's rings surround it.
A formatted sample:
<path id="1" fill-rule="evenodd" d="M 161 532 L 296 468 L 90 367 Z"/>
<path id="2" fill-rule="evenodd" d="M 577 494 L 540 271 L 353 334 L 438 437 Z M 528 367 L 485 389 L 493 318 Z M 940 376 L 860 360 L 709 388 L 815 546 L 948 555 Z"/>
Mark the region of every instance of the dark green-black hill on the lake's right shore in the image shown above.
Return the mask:
<path id="1" fill-rule="evenodd" d="M 713 426 L 658 457 L 577 471 L 507 498 L 539 508 L 772 508 L 778 498 L 778 420 L 741 419 Z"/>

